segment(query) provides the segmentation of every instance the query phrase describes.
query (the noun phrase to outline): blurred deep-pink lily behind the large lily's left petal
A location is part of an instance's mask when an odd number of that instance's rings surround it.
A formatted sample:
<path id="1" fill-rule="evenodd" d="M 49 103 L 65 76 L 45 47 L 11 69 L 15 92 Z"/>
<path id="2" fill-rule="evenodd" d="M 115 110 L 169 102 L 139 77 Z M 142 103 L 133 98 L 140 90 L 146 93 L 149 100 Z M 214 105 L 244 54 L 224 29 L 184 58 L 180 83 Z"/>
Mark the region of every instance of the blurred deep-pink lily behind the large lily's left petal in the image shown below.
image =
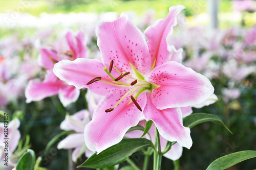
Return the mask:
<path id="1" fill-rule="evenodd" d="M 56 52 L 49 48 L 40 48 L 40 55 L 38 57 L 39 65 L 47 69 L 47 75 L 44 81 L 38 82 L 36 80 L 29 81 L 25 90 L 26 102 L 40 101 L 49 96 L 58 94 L 60 102 L 63 106 L 68 106 L 70 103 L 75 102 L 80 94 L 80 90 L 66 82 L 59 80 L 52 72 L 55 63 L 68 59 L 75 60 L 77 58 L 86 57 L 86 48 L 83 44 L 83 34 L 79 32 L 73 40 L 71 32 L 66 34 L 66 39 L 69 45 L 69 50 L 65 54 Z"/>

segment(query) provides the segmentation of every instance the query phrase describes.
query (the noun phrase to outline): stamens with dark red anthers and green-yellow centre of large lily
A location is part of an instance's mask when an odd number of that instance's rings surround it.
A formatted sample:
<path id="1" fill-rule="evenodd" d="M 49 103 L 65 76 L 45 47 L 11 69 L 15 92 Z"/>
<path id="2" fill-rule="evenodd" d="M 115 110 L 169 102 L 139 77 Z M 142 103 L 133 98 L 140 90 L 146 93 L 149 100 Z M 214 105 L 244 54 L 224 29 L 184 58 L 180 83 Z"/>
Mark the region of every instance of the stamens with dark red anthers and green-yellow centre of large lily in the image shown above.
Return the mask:
<path id="1" fill-rule="evenodd" d="M 134 103 L 135 106 L 140 110 L 142 111 L 141 107 L 139 106 L 139 104 L 137 103 L 136 99 L 138 98 L 138 96 L 140 95 L 140 93 L 142 93 L 143 91 L 145 90 L 152 90 L 153 88 L 157 88 L 157 86 L 151 84 L 151 83 L 148 83 L 147 81 L 143 80 L 142 79 L 135 79 L 133 78 L 131 75 L 130 75 L 130 72 L 120 72 L 118 70 L 117 67 L 113 66 L 114 65 L 114 61 L 112 60 L 111 63 L 110 63 L 110 67 L 109 67 L 109 70 L 107 67 L 104 67 L 103 70 L 106 72 L 106 74 L 108 74 L 112 79 L 113 81 L 111 82 L 108 82 L 108 81 L 104 81 L 104 80 L 101 80 L 101 77 L 96 77 L 94 79 L 92 79 L 91 81 L 89 81 L 87 83 L 87 85 L 89 84 L 92 84 L 96 81 L 102 81 L 104 83 L 108 83 L 108 84 L 111 84 L 113 86 L 117 86 L 117 87 L 132 87 L 129 91 L 127 91 L 123 96 L 122 98 L 117 102 L 117 104 L 112 107 L 112 108 L 109 108 L 109 109 L 106 109 L 105 112 L 111 112 L 114 110 L 114 108 L 116 108 L 118 106 L 118 104 L 129 94 L 130 97 L 131 97 L 131 101 L 130 103 Z M 115 78 L 112 74 L 111 74 L 111 71 L 112 71 L 112 68 L 115 68 L 116 71 L 119 73 L 119 77 Z M 121 82 L 120 80 L 127 80 L 124 82 Z M 131 82 L 131 83 L 130 83 Z M 129 103 L 129 104 L 130 104 Z"/>

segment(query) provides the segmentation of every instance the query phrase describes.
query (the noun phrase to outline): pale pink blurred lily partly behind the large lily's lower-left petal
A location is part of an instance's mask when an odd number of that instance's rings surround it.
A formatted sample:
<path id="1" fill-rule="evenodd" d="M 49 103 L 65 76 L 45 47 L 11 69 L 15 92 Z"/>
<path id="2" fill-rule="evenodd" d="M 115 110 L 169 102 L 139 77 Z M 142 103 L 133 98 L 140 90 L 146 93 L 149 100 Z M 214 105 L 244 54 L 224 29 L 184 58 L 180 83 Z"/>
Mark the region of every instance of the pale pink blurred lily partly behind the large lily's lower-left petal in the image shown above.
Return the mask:
<path id="1" fill-rule="evenodd" d="M 80 110 L 73 115 L 66 115 L 65 120 L 61 122 L 60 129 L 65 131 L 75 131 L 68 135 L 65 139 L 58 143 L 58 149 L 74 149 L 72 153 L 72 160 L 74 162 L 85 153 L 86 157 L 90 157 L 93 152 L 88 150 L 84 142 L 83 131 L 84 127 L 90 122 L 91 116 L 87 110 Z"/>

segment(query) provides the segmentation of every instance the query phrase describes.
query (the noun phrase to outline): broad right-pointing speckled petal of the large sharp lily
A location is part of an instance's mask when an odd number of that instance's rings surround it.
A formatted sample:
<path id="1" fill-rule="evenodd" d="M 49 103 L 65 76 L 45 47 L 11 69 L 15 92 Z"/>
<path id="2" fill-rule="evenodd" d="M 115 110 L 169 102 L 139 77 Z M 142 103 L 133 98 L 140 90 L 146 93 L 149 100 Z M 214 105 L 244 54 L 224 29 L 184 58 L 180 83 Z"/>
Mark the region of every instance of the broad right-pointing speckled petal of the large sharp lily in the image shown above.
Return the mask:
<path id="1" fill-rule="evenodd" d="M 155 67 L 145 80 L 160 86 L 151 95 L 158 109 L 200 104 L 214 93 L 206 77 L 175 61 Z"/>

